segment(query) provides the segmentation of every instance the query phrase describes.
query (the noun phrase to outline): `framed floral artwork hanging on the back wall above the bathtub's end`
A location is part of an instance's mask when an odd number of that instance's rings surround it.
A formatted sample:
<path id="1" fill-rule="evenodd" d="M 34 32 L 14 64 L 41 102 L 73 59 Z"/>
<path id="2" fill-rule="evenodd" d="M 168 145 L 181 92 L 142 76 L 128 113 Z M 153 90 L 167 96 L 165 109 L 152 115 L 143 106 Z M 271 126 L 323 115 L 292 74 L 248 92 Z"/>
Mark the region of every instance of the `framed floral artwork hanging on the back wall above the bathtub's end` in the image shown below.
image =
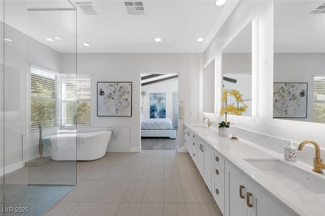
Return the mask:
<path id="1" fill-rule="evenodd" d="M 97 116 L 132 116 L 132 82 L 97 82 Z"/>

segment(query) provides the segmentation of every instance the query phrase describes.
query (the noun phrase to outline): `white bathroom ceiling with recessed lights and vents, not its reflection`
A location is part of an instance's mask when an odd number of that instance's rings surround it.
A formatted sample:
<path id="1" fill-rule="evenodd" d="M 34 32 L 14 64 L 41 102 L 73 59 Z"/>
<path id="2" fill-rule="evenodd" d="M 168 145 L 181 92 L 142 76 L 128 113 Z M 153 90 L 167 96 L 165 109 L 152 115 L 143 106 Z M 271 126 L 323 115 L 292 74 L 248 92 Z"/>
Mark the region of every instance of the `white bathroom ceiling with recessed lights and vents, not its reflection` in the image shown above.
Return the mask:
<path id="1" fill-rule="evenodd" d="M 86 15 L 82 2 L 98 15 Z M 5 22 L 60 53 L 73 53 L 76 45 L 78 53 L 202 53 L 238 0 L 221 7 L 214 0 L 145 0 L 144 15 L 128 15 L 124 2 L 7 0 Z M 54 37 L 61 40 L 45 39 Z"/>

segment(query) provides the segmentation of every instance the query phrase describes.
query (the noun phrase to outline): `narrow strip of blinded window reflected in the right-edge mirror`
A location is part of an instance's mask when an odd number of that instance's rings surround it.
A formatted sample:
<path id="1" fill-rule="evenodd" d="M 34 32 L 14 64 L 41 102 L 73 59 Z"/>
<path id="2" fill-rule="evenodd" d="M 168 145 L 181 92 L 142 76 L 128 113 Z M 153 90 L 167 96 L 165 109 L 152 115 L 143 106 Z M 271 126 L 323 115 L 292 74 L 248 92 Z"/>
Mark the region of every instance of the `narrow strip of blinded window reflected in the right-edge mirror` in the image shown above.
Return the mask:
<path id="1" fill-rule="evenodd" d="M 325 76 L 314 76 L 313 122 L 325 123 Z"/>

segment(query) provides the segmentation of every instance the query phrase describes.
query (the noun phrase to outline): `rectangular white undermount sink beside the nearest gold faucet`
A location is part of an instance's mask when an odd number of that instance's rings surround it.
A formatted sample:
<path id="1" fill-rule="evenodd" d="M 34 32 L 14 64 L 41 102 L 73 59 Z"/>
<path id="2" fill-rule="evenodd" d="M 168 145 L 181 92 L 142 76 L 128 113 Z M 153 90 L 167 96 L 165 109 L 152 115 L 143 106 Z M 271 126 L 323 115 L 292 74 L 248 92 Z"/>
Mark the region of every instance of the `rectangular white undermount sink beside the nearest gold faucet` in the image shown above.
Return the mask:
<path id="1" fill-rule="evenodd" d="M 312 194 L 325 194 L 325 180 L 321 177 L 278 159 L 244 159 L 270 179 L 288 189 Z"/>

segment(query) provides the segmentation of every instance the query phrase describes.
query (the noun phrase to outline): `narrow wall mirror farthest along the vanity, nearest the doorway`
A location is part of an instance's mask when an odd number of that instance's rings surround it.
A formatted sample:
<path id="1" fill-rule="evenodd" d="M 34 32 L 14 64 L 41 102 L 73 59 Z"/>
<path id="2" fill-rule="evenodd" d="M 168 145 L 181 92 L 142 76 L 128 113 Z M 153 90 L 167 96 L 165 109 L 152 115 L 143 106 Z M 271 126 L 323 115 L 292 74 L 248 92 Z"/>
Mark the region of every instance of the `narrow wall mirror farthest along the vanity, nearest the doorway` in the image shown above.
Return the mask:
<path id="1" fill-rule="evenodd" d="M 203 69 L 203 112 L 215 110 L 215 59 Z"/>

